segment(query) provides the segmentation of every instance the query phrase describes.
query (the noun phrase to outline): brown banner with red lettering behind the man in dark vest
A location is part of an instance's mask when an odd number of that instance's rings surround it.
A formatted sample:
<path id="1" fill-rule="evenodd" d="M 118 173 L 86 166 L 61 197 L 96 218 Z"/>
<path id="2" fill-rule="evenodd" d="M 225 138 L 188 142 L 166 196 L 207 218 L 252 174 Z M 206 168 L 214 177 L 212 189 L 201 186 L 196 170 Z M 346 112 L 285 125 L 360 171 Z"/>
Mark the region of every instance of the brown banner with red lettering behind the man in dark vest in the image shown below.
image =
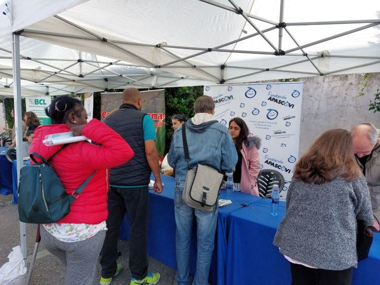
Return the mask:
<path id="1" fill-rule="evenodd" d="M 140 91 L 142 96 L 141 111 L 147 113 L 154 122 L 155 146 L 158 154 L 165 156 L 165 91 L 164 89 Z M 101 93 L 100 117 L 104 120 L 121 105 L 121 92 Z"/>

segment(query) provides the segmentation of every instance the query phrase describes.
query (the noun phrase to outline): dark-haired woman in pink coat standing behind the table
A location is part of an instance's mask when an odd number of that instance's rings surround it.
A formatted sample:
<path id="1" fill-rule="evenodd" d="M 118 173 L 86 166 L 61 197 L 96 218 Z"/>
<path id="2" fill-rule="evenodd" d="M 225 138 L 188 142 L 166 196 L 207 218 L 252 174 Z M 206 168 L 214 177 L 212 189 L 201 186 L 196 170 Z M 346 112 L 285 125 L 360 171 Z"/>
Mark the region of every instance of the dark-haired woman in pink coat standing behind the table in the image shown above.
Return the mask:
<path id="1" fill-rule="evenodd" d="M 260 172 L 258 149 L 261 139 L 249 135 L 248 126 L 239 117 L 232 118 L 228 125 L 229 133 L 235 143 L 238 160 L 233 172 L 233 182 L 238 191 L 258 196 L 257 176 Z"/>

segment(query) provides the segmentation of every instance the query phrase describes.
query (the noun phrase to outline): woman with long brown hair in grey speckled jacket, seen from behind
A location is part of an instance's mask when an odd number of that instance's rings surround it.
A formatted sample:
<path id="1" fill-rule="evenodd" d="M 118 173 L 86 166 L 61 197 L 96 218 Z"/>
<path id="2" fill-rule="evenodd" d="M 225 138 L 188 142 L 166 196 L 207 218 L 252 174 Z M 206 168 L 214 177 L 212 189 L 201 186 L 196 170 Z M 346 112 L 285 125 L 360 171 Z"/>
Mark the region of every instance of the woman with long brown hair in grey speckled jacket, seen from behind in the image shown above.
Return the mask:
<path id="1" fill-rule="evenodd" d="M 274 245 L 292 284 L 351 284 L 356 219 L 372 224 L 369 190 L 345 129 L 322 133 L 295 165 Z"/>

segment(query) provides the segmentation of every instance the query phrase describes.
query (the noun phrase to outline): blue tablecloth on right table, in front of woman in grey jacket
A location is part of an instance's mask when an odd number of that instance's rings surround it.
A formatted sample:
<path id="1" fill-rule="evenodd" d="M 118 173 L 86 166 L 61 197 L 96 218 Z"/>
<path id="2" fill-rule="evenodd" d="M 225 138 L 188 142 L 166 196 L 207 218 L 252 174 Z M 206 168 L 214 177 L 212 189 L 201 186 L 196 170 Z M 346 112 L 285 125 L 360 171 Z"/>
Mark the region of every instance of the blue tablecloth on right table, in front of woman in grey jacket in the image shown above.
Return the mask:
<path id="1" fill-rule="evenodd" d="M 230 215 L 226 284 L 290 284 L 289 262 L 273 245 L 275 231 L 285 214 L 270 215 L 270 200 L 262 199 Z M 376 284 L 380 279 L 380 234 L 375 234 L 369 257 L 358 263 L 352 284 Z M 254 280 L 254 281 L 252 281 Z"/>

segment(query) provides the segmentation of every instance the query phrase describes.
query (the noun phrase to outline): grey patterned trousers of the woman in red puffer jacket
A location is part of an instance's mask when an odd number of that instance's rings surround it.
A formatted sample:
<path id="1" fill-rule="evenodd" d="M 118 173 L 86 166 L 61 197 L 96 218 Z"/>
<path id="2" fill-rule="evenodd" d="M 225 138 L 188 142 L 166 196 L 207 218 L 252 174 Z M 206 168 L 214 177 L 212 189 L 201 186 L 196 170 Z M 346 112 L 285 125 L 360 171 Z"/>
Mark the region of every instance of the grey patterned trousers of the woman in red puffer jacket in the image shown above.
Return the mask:
<path id="1" fill-rule="evenodd" d="M 105 230 L 76 242 L 56 239 L 41 225 L 41 239 L 45 248 L 66 265 L 66 285 L 92 285 L 95 281 L 97 258 L 105 238 Z"/>

